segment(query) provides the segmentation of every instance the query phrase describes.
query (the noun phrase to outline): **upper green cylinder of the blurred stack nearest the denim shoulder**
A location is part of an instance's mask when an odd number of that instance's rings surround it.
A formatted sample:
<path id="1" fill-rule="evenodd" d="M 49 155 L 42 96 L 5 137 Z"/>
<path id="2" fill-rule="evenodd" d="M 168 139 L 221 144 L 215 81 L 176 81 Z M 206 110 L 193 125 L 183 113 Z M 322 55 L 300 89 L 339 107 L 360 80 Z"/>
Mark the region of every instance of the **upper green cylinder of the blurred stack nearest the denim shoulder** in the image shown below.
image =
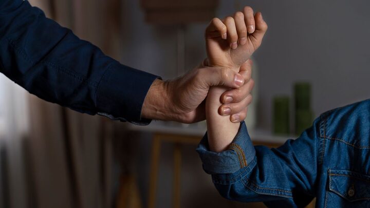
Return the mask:
<path id="1" fill-rule="evenodd" d="M 311 109 L 311 84 L 297 82 L 294 84 L 294 108 L 295 110 Z"/>

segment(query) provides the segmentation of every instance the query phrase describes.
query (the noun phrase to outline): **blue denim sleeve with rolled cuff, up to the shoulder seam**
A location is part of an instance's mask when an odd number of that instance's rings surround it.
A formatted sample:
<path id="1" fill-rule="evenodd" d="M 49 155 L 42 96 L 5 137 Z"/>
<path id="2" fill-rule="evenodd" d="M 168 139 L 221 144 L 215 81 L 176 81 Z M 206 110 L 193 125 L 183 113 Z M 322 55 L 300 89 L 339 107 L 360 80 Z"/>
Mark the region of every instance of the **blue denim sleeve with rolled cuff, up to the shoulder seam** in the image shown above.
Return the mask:
<path id="1" fill-rule="evenodd" d="M 197 147 L 203 168 L 225 198 L 264 201 L 272 207 L 302 207 L 315 196 L 319 119 L 298 139 L 279 148 L 253 146 L 243 122 L 229 149 L 209 150 L 207 134 Z"/>

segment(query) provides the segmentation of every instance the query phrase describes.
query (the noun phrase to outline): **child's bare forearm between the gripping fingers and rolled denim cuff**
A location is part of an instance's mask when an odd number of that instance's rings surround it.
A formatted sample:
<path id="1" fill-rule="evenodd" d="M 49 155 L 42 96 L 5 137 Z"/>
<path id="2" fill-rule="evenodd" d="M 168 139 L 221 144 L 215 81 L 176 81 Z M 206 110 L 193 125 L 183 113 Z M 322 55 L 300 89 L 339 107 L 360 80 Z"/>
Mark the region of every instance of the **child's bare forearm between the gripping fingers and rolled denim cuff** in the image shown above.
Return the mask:
<path id="1" fill-rule="evenodd" d="M 206 118 L 208 142 L 210 150 L 222 152 L 226 150 L 237 134 L 240 123 L 232 123 L 230 117 L 220 116 L 218 108 L 221 105 L 220 96 L 227 88 L 216 86 L 209 90 L 206 101 Z"/>

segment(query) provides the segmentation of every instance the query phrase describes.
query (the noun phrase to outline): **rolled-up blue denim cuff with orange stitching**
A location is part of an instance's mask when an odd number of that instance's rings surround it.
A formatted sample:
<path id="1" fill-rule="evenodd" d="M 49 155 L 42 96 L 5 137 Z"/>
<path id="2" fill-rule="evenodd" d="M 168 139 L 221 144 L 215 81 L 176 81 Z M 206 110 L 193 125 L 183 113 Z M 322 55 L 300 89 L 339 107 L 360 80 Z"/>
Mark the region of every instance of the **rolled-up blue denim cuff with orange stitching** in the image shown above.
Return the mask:
<path id="1" fill-rule="evenodd" d="M 207 133 L 196 150 L 203 163 L 204 170 L 212 175 L 236 173 L 252 164 L 255 157 L 254 146 L 244 121 L 241 123 L 238 133 L 228 150 L 221 153 L 211 152 Z"/>

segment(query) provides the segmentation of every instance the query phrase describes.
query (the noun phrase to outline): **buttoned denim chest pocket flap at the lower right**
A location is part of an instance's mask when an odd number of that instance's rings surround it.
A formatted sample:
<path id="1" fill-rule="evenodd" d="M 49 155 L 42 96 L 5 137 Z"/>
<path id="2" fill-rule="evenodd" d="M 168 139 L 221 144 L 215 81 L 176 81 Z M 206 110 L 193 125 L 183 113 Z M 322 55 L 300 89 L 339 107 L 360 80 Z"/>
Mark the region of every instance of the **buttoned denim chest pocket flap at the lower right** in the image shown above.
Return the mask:
<path id="1" fill-rule="evenodd" d="M 329 190 L 348 201 L 370 200 L 370 176 L 330 169 Z"/>

